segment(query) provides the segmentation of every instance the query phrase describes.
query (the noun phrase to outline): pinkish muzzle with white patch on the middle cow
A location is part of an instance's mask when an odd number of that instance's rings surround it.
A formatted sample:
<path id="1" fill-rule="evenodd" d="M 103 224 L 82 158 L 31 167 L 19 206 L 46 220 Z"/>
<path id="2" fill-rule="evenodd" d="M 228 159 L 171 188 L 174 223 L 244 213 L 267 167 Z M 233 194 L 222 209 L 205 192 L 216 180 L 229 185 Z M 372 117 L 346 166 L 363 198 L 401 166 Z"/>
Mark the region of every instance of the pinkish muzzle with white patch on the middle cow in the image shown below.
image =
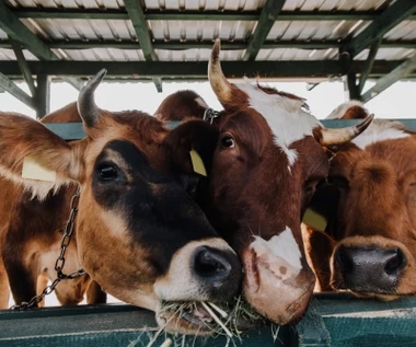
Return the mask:
<path id="1" fill-rule="evenodd" d="M 253 308 L 277 324 L 288 324 L 305 310 L 313 274 L 289 228 L 269 241 L 256 236 L 243 252 L 244 294 Z"/>

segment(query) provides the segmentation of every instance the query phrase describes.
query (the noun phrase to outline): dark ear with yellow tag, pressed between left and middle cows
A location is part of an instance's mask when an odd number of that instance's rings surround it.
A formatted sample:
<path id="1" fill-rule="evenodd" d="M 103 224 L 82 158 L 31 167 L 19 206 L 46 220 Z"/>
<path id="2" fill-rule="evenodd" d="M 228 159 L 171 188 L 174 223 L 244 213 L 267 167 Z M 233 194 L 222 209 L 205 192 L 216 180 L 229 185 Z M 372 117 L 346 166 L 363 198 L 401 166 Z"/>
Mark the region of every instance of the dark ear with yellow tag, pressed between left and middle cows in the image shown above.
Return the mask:
<path id="1" fill-rule="evenodd" d="M 209 175 L 217 140 L 218 130 L 204 120 L 188 120 L 171 130 L 164 139 L 171 151 L 173 166 L 182 174 L 190 175 L 195 174 L 194 165 L 197 164 L 195 152 Z"/>

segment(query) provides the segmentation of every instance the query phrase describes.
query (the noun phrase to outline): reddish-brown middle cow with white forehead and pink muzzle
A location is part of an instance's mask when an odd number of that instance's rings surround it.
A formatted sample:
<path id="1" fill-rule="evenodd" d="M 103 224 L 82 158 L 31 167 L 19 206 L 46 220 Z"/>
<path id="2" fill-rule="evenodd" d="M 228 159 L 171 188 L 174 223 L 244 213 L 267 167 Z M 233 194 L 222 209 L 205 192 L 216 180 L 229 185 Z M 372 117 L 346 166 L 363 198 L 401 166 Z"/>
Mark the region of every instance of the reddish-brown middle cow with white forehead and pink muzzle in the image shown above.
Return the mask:
<path id="1" fill-rule="evenodd" d="M 200 184 L 197 199 L 243 262 L 247 301 L 262 315 L 287 324 L 302 315 L 314 287 L 300 220 L 316 183 L 327 175 L 322 147 L 349 141 L 370 119 L 359 127 L 324 129 L 298 96 L 249 81 L 230 83 L 222 73 L 219 53 L 217 41 L 208 76 L 224 111 L 213 119 L 211 152 L 204 157 L 200 151 L 208 180 L 206 189 L 204 182 Z M 157 111 L 158 117 L 180 120 L 198 105 L 204 108 L 204 101 L 193 94 L 174 96 L 194 102 L 182 111 L 180 103 L 172 102 L 176 99 L 167 100 Z M 171 104 L 176 108 L 172 111 Z M 174 116 L 170 117 L 170 112 Z M 204 122 L 188 120 L 182 126 L 182 136 L 177 135 L 187 138 L 186 125 L 195 123 Z"/>

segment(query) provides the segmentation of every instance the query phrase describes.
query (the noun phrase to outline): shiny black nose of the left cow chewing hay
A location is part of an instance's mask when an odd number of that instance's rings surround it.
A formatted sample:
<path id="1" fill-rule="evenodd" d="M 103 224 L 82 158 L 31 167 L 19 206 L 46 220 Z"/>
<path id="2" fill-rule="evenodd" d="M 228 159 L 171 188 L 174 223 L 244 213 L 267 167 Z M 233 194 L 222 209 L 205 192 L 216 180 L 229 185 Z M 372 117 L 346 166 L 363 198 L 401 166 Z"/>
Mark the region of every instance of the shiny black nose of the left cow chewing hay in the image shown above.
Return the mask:
<path id="1" fill-rule="evenodd" d="M 241 284 L 241 264 L 231 251 L 200 246 L 195 252 L 194 271 L 206 289 L 220 300 L 235 296 Z"/>

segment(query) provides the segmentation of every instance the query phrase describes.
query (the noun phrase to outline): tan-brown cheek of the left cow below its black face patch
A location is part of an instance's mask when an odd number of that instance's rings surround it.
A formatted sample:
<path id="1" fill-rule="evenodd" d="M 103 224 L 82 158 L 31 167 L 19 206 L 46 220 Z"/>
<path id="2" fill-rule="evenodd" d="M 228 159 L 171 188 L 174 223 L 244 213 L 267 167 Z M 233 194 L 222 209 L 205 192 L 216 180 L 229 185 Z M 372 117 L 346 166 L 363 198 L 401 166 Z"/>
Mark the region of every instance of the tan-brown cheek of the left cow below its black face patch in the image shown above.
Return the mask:
<path id="1" fill-rule="evenodd" d="M 147 261 L 149 252 L 129 236 L 119 217 L 109 211 L 89 216 L 106 218 L 93 222 L 79 218 L 83 221 L 77 225 L 81 266 L 113 297 L 154 311 L 158 306 L 153 292 L 157 274 Z"/>

